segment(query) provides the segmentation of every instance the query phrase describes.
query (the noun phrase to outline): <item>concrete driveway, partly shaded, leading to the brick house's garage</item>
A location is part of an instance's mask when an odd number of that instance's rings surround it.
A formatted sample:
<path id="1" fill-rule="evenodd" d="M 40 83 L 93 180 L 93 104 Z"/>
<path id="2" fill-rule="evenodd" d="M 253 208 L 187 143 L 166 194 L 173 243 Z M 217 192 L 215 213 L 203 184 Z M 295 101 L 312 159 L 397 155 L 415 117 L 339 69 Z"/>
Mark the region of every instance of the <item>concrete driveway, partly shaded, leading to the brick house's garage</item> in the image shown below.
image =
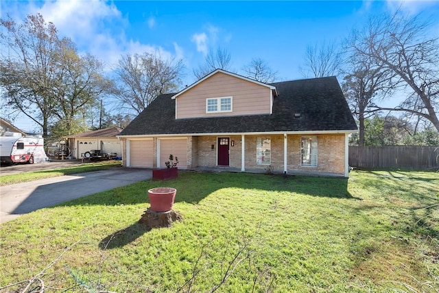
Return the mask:
<path id="1" fill-rule="evenodd" d="M 116 167 L 2 186 L 0 223 L 13 220 L 23 213 L 150 178 L 151 169 Z"/>

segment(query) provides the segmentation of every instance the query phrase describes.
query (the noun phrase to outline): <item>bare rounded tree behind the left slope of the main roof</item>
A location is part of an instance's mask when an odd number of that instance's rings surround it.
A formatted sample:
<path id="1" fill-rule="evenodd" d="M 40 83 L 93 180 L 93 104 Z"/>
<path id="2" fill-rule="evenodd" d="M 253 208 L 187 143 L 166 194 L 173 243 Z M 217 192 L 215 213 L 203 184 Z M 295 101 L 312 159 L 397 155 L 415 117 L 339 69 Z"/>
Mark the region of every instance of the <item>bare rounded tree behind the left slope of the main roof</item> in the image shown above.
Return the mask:
<path id="1" fill-rule="evenodd" d="M 112 93 L 121 108 L 139 114 L 158 95 L 178 91 L 183 68 L 182 60 L 164 60 L 158 54 L 121 56 Z"/>

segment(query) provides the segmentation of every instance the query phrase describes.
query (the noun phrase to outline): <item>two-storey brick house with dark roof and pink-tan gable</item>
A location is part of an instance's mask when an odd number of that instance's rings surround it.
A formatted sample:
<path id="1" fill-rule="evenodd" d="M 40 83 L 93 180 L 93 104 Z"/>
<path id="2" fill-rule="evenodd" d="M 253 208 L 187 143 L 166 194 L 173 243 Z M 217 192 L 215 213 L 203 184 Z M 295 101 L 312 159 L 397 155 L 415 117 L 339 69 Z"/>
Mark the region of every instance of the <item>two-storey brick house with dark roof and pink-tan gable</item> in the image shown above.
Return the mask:
<path id="1" fill-rule="evenodd" d="M 217 69 L 159 95 L 120 134 L 123 165 L 348 177 L 357 126 L 335 77 L 263 84 Z"/>

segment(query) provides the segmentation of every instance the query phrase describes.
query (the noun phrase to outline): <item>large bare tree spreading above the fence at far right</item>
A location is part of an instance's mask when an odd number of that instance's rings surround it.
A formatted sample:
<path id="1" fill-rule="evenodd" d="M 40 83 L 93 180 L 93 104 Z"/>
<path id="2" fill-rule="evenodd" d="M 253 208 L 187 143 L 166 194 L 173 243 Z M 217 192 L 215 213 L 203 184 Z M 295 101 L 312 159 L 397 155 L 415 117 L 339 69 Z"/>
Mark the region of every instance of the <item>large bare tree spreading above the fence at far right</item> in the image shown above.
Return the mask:
<path id="1" fill-rule="evenodd" d="M 408 93 L 396 108 L 377 109 L 418 115 L 439 130 L 439 44 L 437 37 L 426 34 L 430 28 L 431 22 L 420 15 L 383 14 L 353 31 L 349 45 L 357 55 L 393 71 L 394 86 Z"/>

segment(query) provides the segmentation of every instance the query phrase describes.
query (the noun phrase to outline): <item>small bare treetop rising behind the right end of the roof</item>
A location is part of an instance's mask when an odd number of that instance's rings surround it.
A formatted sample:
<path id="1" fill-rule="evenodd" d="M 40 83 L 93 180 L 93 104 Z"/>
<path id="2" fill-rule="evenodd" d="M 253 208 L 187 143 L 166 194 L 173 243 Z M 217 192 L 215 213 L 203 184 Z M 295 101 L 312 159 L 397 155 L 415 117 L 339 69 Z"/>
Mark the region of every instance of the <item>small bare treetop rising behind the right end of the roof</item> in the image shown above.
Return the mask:
<path id="1" fill-rule="evenodd" d="M 342 64 L 342 53 L 337 50 L 334 43 L 326 41 L 307 45 L 304 67 L 299 67 L 300 73 L 305 78 L 323 78 L 336 75 Z"/>

